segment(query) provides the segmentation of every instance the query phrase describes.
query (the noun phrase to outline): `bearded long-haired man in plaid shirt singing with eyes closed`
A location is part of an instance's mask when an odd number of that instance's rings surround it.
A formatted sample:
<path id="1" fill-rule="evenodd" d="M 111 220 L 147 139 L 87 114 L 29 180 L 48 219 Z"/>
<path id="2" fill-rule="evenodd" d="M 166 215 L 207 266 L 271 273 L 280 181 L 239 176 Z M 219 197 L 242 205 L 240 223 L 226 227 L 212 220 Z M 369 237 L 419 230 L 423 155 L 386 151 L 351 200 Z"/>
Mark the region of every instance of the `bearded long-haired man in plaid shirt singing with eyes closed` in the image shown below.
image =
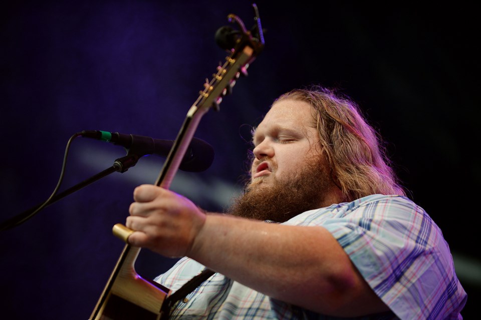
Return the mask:
<path id="1" fill-rule="evenodd" d="M 175 292 L 215 271 L 171 318 L 462 319 L 449 247 L 355 103 L 291 91 L 253 143 L 249 185 L 227 214 L 157 186 L 134 190 L 128 242 L 183 256 L 155 280 Z"/>

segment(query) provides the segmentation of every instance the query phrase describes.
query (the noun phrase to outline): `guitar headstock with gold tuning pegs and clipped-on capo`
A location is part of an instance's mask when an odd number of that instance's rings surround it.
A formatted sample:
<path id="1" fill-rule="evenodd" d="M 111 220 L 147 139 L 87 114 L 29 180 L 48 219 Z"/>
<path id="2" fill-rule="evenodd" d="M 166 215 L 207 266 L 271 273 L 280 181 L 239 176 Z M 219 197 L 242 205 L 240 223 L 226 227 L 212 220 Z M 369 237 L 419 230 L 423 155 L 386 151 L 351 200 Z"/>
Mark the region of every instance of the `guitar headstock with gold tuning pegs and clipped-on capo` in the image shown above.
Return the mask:
<path id="1" fill-rule="evenodd" d="M 207 79 L 204 83 L 204 90 L 199 92 L 199 98 L 189 110 L 191 116 L 200 110 L 206 112 L 210 108 L 218 111 L 222 98 L 232 92 L 232 88 L 241 76 L 248 75 L 247 69 L 264 49 L 259 11 L 255 4 L 253 8 L 255 25 L 250 31 L 246 29 L 239 17 L 230 14 L 227 20 L 236 24 L 238 30 L 223 26 L 215 33 L 217 45 L 229 55 L 225 57 L 224 64 L 217 67 L 217 72 L 212 75 L 211 80 Z"/>

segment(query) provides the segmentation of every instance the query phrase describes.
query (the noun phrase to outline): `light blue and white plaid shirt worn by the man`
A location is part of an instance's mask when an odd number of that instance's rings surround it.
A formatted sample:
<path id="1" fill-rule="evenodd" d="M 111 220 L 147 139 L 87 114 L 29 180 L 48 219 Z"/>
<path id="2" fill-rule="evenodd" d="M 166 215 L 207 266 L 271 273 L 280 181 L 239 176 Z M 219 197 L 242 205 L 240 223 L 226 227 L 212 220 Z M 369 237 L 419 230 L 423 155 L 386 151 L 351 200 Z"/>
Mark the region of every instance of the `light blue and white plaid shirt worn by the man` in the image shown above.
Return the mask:
<path id="1" fill-rule="evenodd" d="M 306 211 L 287 225 L 323 226 L 392 312 L 353 319 L 462 319 L 466 293 L 441 230 L 412 201 L 371 195 Z M 155 280 L 176 291 L 204 266 L 180 259 Z M 339 319 L 257 292 L 215 273 L 179 301 L 172 319 Z"/>

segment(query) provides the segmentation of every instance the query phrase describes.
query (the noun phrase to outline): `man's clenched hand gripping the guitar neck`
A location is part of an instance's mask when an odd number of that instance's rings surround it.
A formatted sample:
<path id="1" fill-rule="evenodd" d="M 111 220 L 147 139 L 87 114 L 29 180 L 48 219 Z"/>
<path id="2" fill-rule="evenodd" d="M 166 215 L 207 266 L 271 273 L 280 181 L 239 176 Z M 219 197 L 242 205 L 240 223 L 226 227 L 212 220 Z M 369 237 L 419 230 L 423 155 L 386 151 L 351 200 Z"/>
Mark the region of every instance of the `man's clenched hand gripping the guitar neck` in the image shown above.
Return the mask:
<path id="1" fill-rule="evenodd" d="M 128 242 L 169 257 L 189 254 L 205 223 L 205 214 L 187 198 L 155 185 L 134 190 L 126 226 L 135 230 Z"/>

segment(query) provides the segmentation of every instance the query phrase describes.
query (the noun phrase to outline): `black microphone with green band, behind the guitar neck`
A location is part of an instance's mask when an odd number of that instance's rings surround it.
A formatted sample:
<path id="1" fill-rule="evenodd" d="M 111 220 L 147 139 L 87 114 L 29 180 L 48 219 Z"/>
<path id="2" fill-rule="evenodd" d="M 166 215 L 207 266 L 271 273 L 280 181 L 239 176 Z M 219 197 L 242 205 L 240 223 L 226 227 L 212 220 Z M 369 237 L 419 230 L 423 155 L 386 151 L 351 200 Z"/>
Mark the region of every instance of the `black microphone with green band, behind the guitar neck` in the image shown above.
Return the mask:
<path id="1" fill-rule="evenodd" d="M 130 153 L 139 156 L 157 154 L 167 157 L 172 148 L 173 140 L 153 139 L 151 137 L 133 134 L 122 134 L 100 130 L 82 131 L 80 136 L 103 140 L 124 147 Z M 180 162 L 179 169 L 188 172 L 201 172 L 207 170 L 214 160 L 214 148 L 207 142 L 193 137 L 185 155 Z"/>

